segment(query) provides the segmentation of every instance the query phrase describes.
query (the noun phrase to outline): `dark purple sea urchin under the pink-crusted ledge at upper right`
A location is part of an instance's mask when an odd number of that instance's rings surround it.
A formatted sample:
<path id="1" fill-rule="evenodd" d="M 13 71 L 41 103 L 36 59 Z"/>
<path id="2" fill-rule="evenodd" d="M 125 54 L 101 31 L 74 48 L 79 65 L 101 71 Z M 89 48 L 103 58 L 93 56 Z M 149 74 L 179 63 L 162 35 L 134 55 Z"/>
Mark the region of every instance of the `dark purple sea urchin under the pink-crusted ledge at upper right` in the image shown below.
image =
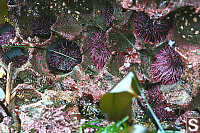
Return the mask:
<path id="1" fill-rule="evenodd" d="M 151 19 L 144 12 L 134 13 L 133 26 L 136 37 L 154 44 L 163 42 L 171 27 L 169 18 Z"/>

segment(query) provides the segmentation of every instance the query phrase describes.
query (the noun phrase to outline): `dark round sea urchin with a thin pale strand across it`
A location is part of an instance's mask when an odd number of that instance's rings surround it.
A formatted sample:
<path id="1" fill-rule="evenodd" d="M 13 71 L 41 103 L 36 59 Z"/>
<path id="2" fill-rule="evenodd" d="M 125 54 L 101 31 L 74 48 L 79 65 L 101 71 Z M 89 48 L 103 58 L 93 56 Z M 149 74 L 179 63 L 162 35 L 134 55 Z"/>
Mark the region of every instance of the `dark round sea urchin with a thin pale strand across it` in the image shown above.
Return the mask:
<path id="1" fill-rule="evenodd" d="M 52 43 L 47 50 L 46 57 L 48 67 L 54 74 L 71 72 L 82 61 L 79 46 L 66 39 L 59 39 Z"/>

